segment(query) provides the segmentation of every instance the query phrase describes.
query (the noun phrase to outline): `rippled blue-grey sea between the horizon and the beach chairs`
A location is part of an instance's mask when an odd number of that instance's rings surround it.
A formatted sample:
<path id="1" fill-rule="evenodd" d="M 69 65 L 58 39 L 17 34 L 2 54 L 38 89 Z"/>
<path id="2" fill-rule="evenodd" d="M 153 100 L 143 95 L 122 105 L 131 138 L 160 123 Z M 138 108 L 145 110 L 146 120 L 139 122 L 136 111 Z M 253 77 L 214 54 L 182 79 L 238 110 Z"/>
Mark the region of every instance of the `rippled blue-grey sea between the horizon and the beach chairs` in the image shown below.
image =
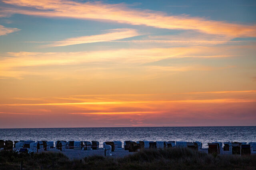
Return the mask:
<path id="1" fill-rule="evenodd" d="M 243 127 L 103 127 L 0 129 L 0 139 L 33 141 L 220 141 L 256 142 L 256 126 Z"/>

